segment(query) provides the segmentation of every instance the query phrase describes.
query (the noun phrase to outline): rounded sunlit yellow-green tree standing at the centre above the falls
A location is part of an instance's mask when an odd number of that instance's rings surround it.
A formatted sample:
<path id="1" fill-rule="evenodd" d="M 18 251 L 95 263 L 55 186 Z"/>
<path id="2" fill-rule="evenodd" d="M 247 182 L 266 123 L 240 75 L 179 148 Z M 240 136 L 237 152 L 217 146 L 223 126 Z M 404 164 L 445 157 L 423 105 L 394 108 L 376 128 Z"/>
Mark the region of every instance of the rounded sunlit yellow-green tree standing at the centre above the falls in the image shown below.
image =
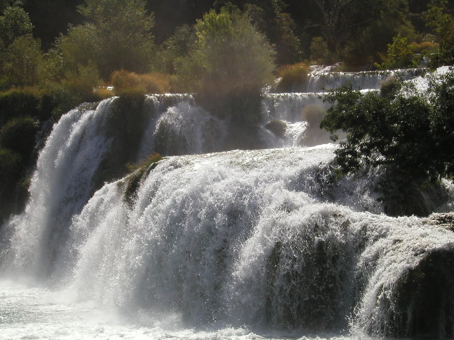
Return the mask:
<path id="1" fill-rule="evenodd" d="M 259 92 L 272 79 L 274 51 L 247 14 L 211 10 L 195 30 L 197 42 L 184 70 L 195 91 L 241 96 Z"/>

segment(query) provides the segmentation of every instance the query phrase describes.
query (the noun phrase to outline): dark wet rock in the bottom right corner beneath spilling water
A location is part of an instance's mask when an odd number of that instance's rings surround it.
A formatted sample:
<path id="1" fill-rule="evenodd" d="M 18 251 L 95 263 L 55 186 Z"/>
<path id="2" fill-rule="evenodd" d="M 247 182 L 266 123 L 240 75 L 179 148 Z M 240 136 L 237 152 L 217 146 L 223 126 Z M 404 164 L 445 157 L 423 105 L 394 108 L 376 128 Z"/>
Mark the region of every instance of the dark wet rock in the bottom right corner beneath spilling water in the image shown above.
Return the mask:
<path id="1" fill-rule="evenodd" d="M 454 336 L 454 243 L 429 250 L 393 287 L 384 336 Z"/>

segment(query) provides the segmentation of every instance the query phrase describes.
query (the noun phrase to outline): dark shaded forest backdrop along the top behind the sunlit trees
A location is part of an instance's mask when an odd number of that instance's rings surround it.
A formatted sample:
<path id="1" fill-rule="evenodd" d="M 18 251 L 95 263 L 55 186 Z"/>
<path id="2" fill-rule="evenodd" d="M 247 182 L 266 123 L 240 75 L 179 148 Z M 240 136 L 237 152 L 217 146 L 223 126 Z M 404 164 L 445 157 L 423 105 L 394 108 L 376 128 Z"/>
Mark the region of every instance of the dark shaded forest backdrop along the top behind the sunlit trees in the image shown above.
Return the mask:
<path id="1" fill-rule="evenodd" d="M 127 3 L 111 1 L 111 3 Z M 33 36 L 44 50 L 68 32 L 68 25 L 83 24 L 86 18 L 77 6 L 83 0 L 2 1 L 19 5 L 30 16 Z M 166 0 L 146 1 L 154 14 L 151 32 L 161 45 L 182 25 L 194 25 L 210 9 L 237 6 L 249 11 L 257 26 L 266 33 L 278 52 L 278 64 L 303 59 L 332 62 L 343 60 L 352 66 L 379 62 L 387 44 L 400 34 L 410 42 L 437 42 L 425 15 L 430 6 L 444 6 L 449 12 L 454 1 L 430 0 Z M 133 19 L 132 19 L 133 20 Z"/>

